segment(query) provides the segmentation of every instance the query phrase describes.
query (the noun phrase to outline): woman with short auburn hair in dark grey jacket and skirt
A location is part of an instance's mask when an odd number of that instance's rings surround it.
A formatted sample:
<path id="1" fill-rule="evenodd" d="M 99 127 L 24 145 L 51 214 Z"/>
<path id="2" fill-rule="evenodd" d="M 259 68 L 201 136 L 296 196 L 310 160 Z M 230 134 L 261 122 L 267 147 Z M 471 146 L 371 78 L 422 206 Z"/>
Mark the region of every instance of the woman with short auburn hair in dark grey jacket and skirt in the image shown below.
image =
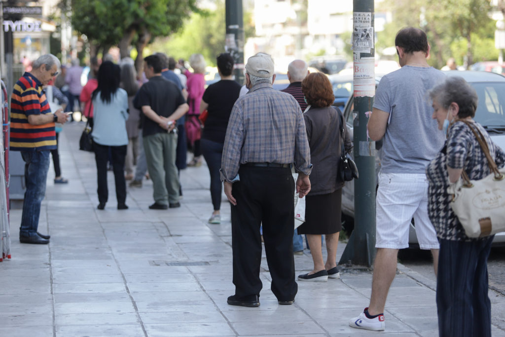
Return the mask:
<path id="1" fill-rule="evenodd" d="M 344 182 L 338 177 L 341 142 L 346 152 L 352 149 L 352 142 L 341 123 L 345 122 L 340 110 L 331 106 L 335 97 L 328 77 L 323 73 L 309 74 L 301 82 L 301 90 L 309 106 L 304 112 L 307 138 L 314 165 L 311 191 L 307 195 L 305 222 L 298 227 L 298 234 L 307 234 L 314 269 L 298 275 L 300 281 L 327 281 L 339 278 L 336 263 L 339 232 L 342 227 L 341 203 Z M 323 261 L 321 234 L 326 236 L 326 263 Z"/>

